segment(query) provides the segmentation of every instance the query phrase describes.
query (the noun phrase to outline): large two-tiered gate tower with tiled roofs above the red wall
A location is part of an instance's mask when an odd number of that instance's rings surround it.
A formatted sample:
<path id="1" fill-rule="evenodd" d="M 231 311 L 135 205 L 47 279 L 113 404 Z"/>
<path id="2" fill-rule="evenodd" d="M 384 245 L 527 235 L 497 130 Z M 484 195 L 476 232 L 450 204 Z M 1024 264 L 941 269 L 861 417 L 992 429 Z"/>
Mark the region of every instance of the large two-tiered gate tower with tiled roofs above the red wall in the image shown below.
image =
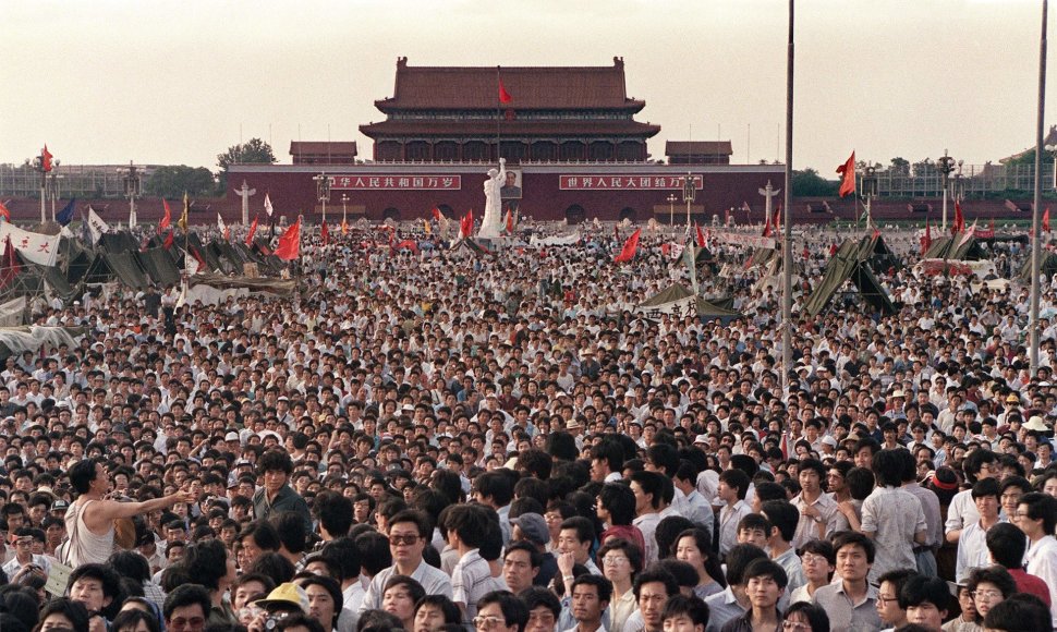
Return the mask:
<path id="1" fill-rule="evenodd" d="M 410 66 L 401 57 L 393 96 L 375 101 L 386 120 L 360 131 L 377 161 L 643 162 L 660 132 L 634 120 L 645 106 L 628 96 L 619 57 L 611 66 L 501 69 Z"/>

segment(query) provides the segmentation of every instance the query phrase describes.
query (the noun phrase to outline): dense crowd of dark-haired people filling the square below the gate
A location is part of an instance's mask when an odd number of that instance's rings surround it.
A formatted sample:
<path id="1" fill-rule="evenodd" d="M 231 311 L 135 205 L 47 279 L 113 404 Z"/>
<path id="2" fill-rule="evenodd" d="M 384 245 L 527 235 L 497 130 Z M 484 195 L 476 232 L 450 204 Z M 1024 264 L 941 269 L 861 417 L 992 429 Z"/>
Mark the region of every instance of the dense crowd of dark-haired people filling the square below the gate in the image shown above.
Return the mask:
<path id="1" fill-rule="evenodd" d="M 885 232 L 895 312 L 811 318 L 839 236 L 800 234 L 782 367 L 776 283 L 712 231 L 696 282 L 740 316 L 635 308 L 693 235 L 619 265 L 628 230 L 400 230 L 429 247 L 312 238 L 292 299 L 35 303 L 84 332 L 0 370 L 0 630 L 1057 623 L 1057 325 L 1031 370 L 1018 242 L 981 287 Z"/>

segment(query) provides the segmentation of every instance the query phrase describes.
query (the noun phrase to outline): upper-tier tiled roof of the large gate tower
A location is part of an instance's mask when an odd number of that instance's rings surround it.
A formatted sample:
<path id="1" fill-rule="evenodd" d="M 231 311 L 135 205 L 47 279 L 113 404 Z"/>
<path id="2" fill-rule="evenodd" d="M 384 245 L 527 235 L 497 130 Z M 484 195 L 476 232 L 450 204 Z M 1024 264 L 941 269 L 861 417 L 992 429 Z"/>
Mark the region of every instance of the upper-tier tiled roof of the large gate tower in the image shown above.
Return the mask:
<path id="1" fill-rule="evenodd" d="M 505 108 L 641 110 L 628 98 L 624 64 L 611 66 L 410 66 L 397 60 L 393 96 L 375 101 L 384 112 L 402 109 L 487 109 L 499 106 L 499 81 L 511 96 Z"/>

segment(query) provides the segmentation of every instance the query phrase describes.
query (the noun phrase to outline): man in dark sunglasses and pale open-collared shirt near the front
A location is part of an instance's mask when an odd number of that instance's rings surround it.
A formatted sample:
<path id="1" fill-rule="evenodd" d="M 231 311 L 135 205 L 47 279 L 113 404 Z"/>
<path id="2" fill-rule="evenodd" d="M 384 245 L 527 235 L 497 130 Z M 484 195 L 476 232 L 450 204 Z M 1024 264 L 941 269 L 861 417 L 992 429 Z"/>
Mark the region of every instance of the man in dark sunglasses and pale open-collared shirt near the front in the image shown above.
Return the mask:
<path id="1" fill-rule="evenodd" d="M 389 521 L 389 551 L 392 566 L 382 569 L 370 580 L 367 592 L 360 605 L 360 612 L 381 608 L 381 597 L 386 583 L 393 575 L 406 575 L 425 588 L 427 595 L 444 595 L 451 598 L 451 578 L 442 570 L 427 564 L 422 552 L 433 534 L 428 521 L 417 511 L 404 510 Z"/>

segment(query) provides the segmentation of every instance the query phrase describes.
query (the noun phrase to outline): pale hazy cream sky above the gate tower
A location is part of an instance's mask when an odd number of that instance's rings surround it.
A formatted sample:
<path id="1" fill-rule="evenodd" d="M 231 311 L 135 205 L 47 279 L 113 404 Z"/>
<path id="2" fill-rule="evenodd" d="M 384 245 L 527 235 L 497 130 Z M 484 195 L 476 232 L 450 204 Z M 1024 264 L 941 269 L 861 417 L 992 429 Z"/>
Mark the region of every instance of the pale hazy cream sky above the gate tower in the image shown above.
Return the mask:
<path id="1" fill-rule="evenodd" d="M 773 160 L 785 122 L 782 0 L 0 1 L 0 162 L 186 163 L 259 136 L 354 139 L 411 65 L 610 65 L 649 142 L 730 139 Z M 801 0 L 795 168 L 982 163 L 1034 144 L 1041 0 Z M 1050 17 L 1050 26 L 1054 20 Z M 1050 28 L 1053 32 L 1053 28 Z M 1057 49 L 1057 46 L 1052 47 Z M 1050 54 L 1050 66 L 1057 59 Z M 1053 73 L 1050 73 L 1053 75 Z M 1052 77 L 1049 111 L 1057 108 Z M 1047 116 L 1047 125 L 1057 116 Z M 781 132 L 785 136 L 785 132 Z"/>

